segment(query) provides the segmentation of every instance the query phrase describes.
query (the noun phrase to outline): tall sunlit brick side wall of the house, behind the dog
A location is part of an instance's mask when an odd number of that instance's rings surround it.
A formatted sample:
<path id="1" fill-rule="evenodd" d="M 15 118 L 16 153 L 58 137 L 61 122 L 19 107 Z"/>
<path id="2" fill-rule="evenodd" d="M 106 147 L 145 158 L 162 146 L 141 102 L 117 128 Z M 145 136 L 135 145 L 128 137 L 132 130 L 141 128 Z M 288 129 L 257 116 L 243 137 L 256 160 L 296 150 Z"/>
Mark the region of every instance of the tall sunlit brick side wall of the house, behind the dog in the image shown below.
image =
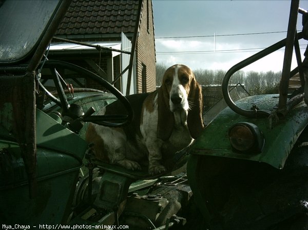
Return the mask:
<path id="1" fill-rule="evenodd" d="M 146 83 L 146 92 L 155 91 L 156 56 L 151 0 L 143 0 L 136 56 L 137 93 L 143 92 L 142 82 Z M 142 70 L 144 68 L 146 68 L 146 79 L 142 79 Z"/>

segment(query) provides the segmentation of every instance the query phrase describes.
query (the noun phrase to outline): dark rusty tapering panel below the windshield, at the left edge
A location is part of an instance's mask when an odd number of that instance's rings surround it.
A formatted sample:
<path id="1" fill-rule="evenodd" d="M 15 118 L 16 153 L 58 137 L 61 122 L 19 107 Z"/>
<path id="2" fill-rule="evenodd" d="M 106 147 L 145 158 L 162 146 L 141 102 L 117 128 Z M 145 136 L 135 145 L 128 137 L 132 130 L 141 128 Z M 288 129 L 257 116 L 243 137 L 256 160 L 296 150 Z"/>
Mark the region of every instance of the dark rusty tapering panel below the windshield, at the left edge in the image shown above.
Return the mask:
<path id="1" fill-rule="evenodd" d="M 30 197 L 35 196 L 36 135 L 34 71 L 24 76 L 1 77 L 0 110 L 12 104 L 12 134 L 21 148 L 29 181 Z"/>

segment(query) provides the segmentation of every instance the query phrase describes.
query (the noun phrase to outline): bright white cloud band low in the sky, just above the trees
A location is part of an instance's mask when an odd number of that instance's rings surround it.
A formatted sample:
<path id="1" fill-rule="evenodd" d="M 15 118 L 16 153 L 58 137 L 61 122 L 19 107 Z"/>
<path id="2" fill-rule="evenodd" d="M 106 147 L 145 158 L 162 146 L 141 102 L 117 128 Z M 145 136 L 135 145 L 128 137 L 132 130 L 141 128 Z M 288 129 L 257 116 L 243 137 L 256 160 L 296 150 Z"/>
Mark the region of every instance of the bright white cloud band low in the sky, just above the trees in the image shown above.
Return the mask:
<path id="1" fill-rule="evenodd" d="M 260 48 L 255 47 L 253 44 L 240 44 L 240 43 L 227 43 L 219 41 L 216 44 L 216 52 L 214 52 L 214 41 L 201 41 L 201 40 L 159 40 L 156 44 L 157 61 L 163 62 L 168 66 L 174 64 L 185 64 L 191 69 L 222 69 L 228 70 L 236 65 L 238 62 L 254 55 L 258 50 L 246 50 L 247 48 Z M 197 53 L 173 53 L 173 52 L 196 52 Z M 208 51 L 202 53 L 200 51 Z M 253 51 L 253 52 L 249 52 Z M 170 52 L 170 53 L 160 53 Z M 274 71 L 282 70 L 283 64 L 283 51 L 276 51 L 261 60 L 256 61 L 254 64 L 243 68 L 244 71 Z M 302 57 L 303 58 L 303 57 Z M 295 55 L 293 55 L 293 66 L 296 66 Z"/>

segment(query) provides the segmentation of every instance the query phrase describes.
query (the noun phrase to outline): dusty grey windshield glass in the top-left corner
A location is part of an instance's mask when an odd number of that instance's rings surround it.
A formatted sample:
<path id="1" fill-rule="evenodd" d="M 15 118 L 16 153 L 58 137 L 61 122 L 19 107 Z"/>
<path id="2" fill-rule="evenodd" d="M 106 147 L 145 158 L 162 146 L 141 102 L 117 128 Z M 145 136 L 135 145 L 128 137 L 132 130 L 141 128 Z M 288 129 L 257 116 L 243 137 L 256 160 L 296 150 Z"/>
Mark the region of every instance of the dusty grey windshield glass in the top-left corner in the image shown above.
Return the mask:
<path id="1" fill-rule="evenodd" d="M 33 55 L 61 3 L 62 0 L 2 2 L 0 66 L 16 65 Z"/>

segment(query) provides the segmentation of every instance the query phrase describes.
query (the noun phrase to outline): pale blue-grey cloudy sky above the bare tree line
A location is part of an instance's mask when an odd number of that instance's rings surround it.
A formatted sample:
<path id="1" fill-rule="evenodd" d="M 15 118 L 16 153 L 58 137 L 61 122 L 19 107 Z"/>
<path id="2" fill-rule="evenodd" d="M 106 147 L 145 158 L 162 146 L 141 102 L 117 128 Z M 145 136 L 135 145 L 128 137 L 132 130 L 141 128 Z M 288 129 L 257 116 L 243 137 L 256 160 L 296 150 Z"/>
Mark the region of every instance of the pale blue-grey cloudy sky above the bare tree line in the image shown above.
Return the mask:
<path id="1" fill-rule="evenodd" d="M 152 0 L 157 63 L 184 64 L 192 70 L 228 70 L 285 38 L 290 0 Z M 308 10 L 308 0 L 300 1 Z M 302 29 L 301 14 L 297 30 Z M 241 35 L 236 35 L 241 34 Z M 302 54 L 307 45 L 300 40 Z M 282 70 L 284 48 L 244 71 Z M 292 67 L 296 66 L 295 54 Z M 303 55 L 302 55 L 303 58 Z"/>

